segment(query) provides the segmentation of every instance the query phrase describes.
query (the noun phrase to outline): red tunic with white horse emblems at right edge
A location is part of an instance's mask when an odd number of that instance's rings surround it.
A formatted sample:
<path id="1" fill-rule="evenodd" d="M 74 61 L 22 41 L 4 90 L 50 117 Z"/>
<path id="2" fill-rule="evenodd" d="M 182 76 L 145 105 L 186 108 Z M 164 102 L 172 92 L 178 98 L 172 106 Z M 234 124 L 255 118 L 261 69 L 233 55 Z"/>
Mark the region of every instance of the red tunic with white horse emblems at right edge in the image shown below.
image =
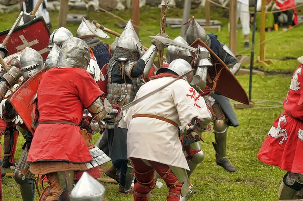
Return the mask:
<path id="1" fill-rule="evenodd" d="M 303 65 L 294 72 L 283 103 L 284 112 L 274 121 L 260 151 L 258 159 L 282 170 L 303 174 Z"/>

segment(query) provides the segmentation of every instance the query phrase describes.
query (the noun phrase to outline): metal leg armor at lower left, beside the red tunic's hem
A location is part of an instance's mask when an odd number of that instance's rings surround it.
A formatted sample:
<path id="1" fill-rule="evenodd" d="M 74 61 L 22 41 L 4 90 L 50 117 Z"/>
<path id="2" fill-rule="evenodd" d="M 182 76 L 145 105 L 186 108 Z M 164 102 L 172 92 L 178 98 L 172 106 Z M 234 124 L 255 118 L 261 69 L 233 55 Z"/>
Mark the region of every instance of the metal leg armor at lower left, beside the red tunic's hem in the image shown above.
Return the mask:
<path id="1" fill-rule="evenodd" d="M 35 195 L 35 186 L 33 182 L 34 174 L 29 171 L 30 163 L 26 162 L 27 149 L 24 148 L 20 161 L 14 171 L 14 179 L 20 186 L 23 201 L 33 201 Z"/>

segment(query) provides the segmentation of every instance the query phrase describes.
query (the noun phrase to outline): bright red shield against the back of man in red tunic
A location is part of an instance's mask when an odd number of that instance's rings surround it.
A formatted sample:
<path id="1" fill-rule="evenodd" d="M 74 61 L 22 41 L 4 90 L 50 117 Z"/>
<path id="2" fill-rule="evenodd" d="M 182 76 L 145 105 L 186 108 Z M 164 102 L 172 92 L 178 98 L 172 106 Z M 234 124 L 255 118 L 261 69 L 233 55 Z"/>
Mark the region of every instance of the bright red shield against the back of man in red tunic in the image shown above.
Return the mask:
<path id="1" fill-rule="evenodd" d="M 33 104 L 33 100 L 38 91 L 39 79 L 45 69 L 40 70 L 34 76 L 29 78 L 25 83 L 23 83 L 13 94 L 10 99 L 10 103 L 18 113 L 18 115 L 23 120 L 26 127 L 34 133 L 32 128 L 32 119 L 34 118 L 36 104 Z"/>

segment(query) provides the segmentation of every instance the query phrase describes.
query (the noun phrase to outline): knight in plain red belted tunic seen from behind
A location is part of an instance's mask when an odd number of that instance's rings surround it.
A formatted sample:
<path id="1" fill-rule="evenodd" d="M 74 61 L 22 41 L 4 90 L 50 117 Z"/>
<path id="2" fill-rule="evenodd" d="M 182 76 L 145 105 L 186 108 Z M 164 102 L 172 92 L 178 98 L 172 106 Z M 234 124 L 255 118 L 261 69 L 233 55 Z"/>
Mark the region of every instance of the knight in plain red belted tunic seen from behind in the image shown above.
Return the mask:
<path id="1" fill-rule="evenodd" d="M 46 71 L 40 78 L 37 91 L 39 125 L 27 161 L 31 163 L 33 174 L 46 175 L 51 182 L 46 200 L 69 200 L 74 171 L 87 171 L 91 162 L 95 162 L 79 135 L 78 125 L 84 108 L 97 121 L 119 115 L 118 106 L 113 108 L 106 100 L 102 102 L 100 97 L 104 93 L 86 71 L 89 60 L 87 44 L 79 38 L 68 38 L 60 50 L 58 68 Z"/>

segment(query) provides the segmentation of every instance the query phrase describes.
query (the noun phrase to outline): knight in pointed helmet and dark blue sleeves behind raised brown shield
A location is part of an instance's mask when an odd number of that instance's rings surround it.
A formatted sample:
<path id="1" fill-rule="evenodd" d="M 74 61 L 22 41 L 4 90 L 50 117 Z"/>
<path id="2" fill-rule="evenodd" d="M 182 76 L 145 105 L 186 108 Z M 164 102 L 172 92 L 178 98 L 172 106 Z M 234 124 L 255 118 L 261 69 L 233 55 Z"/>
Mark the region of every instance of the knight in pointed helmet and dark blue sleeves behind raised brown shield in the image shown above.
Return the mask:
<path id="1" fill-rule="evenodd" d="M 185 35 L 185 40 L 187 43 L 191 44 L 198 38 L 205 42 L 207 46 L 218 55 L 233 74 L 238 72 L 241 64 L 238 63 L 238 60 L 230 49 L 217 40 L 217 35 L 206 34 L 205 30 L 195 21 L 194 17 L 192 17 L 192 21 L 190 22 Z M 211 56 L 210 62 L 213 63 L 213 60 L 214 59 Z M 207 78 L 206 75 L 207 71 L 201 72 L 201 76 L 205 83 Z M 216 142 L 213 142 L 213 146 L 216 151 L 216 163 L 229 172 L 235 172 L 236 167 L 226 158 L 226 137 L 228 126 L 237 127 L 239 126 L 239 121 L 227 97 L 216 92 L 211 92 L 209 87 L 206 87 L 203 91 L 204 92 L 201 93 L 201 95 L 203 95 L 206 103 L 212 108 L 214 117 L 213 128 Z"/>

